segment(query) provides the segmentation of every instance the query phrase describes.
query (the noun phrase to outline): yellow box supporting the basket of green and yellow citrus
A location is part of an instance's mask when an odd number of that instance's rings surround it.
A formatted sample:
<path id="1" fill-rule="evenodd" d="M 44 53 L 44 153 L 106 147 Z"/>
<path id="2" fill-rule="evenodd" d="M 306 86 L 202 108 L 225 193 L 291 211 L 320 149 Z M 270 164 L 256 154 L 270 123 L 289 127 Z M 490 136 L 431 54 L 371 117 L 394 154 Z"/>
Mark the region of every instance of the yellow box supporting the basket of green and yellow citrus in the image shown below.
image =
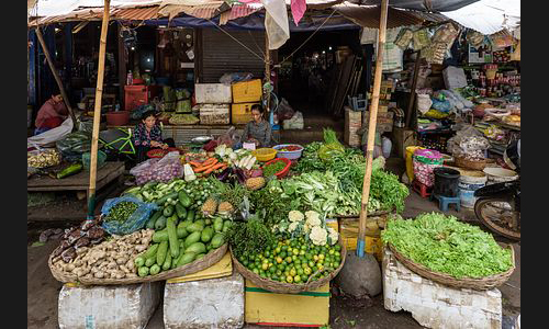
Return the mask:
<path id="1" fill-rule="evenodd" d="M 329 322 L 329 283 L 313 292 L 276 294 L 246 280 L 245 320 L 277 327 L 322 327 Z"/>

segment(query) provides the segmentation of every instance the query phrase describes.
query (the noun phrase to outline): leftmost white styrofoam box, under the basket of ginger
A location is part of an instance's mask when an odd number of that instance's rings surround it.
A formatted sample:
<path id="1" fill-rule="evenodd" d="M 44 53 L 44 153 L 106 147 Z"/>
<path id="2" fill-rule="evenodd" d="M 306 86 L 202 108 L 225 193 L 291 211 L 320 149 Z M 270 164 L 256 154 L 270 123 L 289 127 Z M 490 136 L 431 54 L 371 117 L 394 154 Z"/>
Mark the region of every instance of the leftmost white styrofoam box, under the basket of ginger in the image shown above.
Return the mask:
<path id="1" fill-rule="evenodd" d="M 143 329 L 160 302 L 161 283 L 64 285 L 59 292 L 59 328 Z"/>

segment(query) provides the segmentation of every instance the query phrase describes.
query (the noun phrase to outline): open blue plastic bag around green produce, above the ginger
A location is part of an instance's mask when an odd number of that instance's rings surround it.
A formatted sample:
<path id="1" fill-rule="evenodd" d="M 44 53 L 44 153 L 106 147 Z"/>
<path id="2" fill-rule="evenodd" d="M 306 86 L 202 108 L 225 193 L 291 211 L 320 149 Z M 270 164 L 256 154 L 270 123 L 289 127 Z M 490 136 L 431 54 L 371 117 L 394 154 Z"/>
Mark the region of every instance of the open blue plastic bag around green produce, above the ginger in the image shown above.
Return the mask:
<path id="1" fill-rule="evenodd" d="M 133 196 L 121 196 L 107 200 L 101 207 L 101 214 L 107 216 L 110 209 L 121 202 L 133 202 L 137 204 L 137 208 L 124 223 L 103 222 L 103 229 L 111 235 L 125 236 L 144 228 L 150 217 L 150 213 L 158 208 L 158 206 L 154 203 L 145 203 Z"/>

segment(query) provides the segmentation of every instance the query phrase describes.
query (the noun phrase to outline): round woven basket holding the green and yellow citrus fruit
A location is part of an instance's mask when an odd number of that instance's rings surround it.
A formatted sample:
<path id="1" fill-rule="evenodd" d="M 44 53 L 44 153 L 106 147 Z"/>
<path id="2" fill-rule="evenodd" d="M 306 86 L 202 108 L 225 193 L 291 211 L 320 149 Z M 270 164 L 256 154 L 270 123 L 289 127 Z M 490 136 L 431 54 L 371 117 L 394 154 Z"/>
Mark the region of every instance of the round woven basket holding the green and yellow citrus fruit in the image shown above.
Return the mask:
<path id="1" fill-rule="evenodd" d="M 261 277 L 260 275 L 251 272 L 250 270 L 246 269 L 246 266 L 240 264 L 240 262 L 234 256 L 233 249 L 231 249 L 231 258 L 233 259 L 233 264 L 235 265 L 236 271 L 238 271 L 238 273 L 240 273 L 242 276 L 251 281 L 258 287 L 278 294 L 299 294 L 303 292 L 315 291 L 322 287 L 323 285 L 332 281 L 337 275 L 337 273 L 339 273 L 339 271 L 341 271 L 345 264 L 347 251 L 340 239 L 339 239 L 339 246 L 341 246 L 341 263 L 334 272 L 329 273 L 329 275 L 324 276 L 317 281 L 310 281 L 307 283 L 300 283 L 300 284 L 278 282 Z"/>

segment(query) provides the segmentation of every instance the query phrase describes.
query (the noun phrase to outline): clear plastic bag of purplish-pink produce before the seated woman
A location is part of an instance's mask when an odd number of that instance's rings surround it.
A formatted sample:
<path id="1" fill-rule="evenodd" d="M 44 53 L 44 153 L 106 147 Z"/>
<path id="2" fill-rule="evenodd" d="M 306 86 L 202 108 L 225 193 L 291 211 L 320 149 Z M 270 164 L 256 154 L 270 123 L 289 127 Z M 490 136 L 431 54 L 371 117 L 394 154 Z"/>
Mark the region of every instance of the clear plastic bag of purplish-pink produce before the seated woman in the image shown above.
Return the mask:
<path id="1" fill-rule="evenodd" d="M 169 182 L 183 177 L 179 151 L 169 152 L 161 159 L 148 159 L 130 170 L 137 185 L 147 182 Z"/>

